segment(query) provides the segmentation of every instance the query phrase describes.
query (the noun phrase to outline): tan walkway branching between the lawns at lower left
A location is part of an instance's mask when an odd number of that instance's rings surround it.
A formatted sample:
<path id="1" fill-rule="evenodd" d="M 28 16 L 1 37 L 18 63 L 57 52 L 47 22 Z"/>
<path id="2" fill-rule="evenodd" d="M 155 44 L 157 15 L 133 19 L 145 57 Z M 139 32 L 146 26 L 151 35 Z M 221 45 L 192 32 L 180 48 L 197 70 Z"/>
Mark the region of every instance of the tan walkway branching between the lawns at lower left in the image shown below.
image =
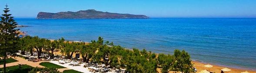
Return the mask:
<path id="1" fill-rule="evenodd" d="M 39 61 L 39 62 L 32 62 L 32 61 L 28 61 L 28 60 L 25 60 L 23 58 L 20 58 L 20 57 L 12 57 L 13 59 L 15 60 L 18 60 L 18 62 L 13 62 L 13 63 L 7 63 L 6 66 L 16 66 L 18 64 L 27 64 L 29 66 L 33 66 L 33 67 L 41 67 L 41 68 L 44 68 L 44 66 L 41 66 L 39 65 L 39 63 L 42 63 L 42 62 L 50 62 L 50 61 Z M 3 65 L 0 65 L 0 68 L 2 68 Z M 63 72 L 64 70 L 70 70 L 68 68 L 62 68 L 62 69 L 58 69 L 60 72 Z"/>

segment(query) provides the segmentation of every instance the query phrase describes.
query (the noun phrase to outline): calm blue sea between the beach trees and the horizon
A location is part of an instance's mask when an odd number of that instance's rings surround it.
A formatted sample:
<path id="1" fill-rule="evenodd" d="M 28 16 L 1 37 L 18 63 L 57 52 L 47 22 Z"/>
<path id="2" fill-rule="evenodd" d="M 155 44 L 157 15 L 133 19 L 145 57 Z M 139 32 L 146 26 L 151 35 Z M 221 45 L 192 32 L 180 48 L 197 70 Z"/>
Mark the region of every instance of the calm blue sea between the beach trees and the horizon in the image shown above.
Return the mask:
<path id="1" fill-rule="evenodd" d="M 173 54 L 186 50 L 192 60 L 256 70 L 256 19 L 35 19 L 16 18 L 20 30 L 46 39 L 104 40 L 125 48 Z"/>

